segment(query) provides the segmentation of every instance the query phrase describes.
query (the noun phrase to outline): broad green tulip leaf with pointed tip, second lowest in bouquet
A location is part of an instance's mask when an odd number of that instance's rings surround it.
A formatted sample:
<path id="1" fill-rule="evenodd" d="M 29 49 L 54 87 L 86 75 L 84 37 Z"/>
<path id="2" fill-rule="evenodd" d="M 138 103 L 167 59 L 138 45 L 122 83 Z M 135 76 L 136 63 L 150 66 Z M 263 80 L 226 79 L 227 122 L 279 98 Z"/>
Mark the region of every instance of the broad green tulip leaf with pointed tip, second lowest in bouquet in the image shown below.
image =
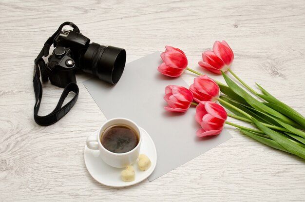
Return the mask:
<path id="1" fill-rule="evenodd" d="M 253 119 L 255 125 L 261 129 L 266 135 L 268 135 L 272 140 L 276 141 L 278 144 L 280 144 L 282 147 L 284 147 L 287 151 L 289 151 L 292 154 L 295 154 L 303 159 L 305 159 L 305 148 L 302 146 L 294 143 L 293 141 L 286 138 L 285 135 L 278 133 L 274 130 L 271 130 L 270 128 L 267 128 L 264 126 L 261 122 L 257 121 L 256 119 Z"/>

